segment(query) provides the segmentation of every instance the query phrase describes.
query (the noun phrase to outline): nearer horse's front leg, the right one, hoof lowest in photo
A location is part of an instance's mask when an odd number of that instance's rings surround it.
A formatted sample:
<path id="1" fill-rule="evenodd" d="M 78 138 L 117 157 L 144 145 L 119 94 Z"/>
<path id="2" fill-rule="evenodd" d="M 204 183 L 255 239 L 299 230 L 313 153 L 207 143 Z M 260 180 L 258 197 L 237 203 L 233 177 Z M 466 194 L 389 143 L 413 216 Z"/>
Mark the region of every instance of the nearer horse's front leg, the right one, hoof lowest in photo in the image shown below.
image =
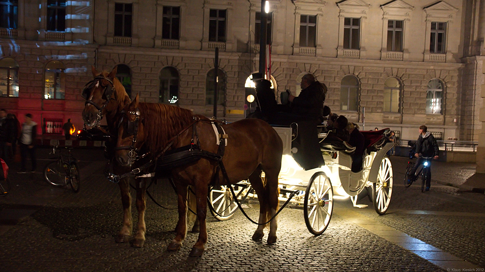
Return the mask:
<path id="1" fill-rule="evenodd" d="M 199 238 L 197 242 L 192 247 L 189 254 L 190 257 L 200 257 L 204 253 L 204 245 L 207 243 L 207 182 L 201 182 L 202 179 L 198 180 L 198 184 L 195 188 L 195 200 L 197 204 L 197 219 L 200 225 Z"/>

